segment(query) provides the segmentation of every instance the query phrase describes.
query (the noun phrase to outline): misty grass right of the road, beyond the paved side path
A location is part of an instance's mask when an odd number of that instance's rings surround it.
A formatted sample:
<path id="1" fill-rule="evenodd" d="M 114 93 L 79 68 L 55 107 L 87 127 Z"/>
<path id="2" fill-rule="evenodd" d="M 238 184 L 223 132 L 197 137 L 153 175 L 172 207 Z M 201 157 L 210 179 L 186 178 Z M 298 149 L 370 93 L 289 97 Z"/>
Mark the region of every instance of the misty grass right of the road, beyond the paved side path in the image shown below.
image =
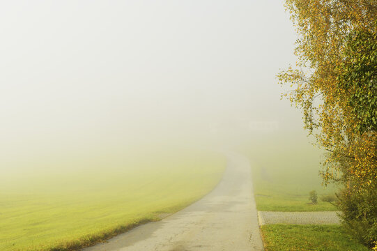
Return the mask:
<path id="1" fill-rule="evenodd" d="M 261 135 L 243 146 L 252 165 L 254 195 L 259 211 L 334 211 L 322 195 L 334 195 L 323 187 L 318 172 L 323 153 L 309 144 L 305 135 Z M 316 190 L 318 204 L 309 192 Z"/>

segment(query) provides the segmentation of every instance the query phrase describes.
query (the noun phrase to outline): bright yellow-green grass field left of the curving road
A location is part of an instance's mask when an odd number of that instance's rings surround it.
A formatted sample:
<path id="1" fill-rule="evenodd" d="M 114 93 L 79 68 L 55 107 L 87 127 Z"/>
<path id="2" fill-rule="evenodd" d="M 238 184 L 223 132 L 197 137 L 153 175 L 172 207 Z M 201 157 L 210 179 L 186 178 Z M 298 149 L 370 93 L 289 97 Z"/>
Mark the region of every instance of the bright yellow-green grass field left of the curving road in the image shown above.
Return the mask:
<path id="1" fill-rule="evenodd" d="M 74 250 L 158 220 L 212 190 L 226 163 L 203 152 L 95 158 L 2 175 L 0 250 Z"/>

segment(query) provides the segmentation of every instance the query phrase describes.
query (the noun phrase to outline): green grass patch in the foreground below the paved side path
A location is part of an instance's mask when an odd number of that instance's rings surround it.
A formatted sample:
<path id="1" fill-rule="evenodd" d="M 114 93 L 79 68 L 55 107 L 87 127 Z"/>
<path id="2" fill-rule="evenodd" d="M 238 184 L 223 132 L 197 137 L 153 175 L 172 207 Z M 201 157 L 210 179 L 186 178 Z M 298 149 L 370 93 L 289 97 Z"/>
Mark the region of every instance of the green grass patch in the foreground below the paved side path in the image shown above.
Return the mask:
<path id="1" fill-rule="evenodd" d="M 264 225 L 266 251 L 368 251 L 337 225 Z"/>

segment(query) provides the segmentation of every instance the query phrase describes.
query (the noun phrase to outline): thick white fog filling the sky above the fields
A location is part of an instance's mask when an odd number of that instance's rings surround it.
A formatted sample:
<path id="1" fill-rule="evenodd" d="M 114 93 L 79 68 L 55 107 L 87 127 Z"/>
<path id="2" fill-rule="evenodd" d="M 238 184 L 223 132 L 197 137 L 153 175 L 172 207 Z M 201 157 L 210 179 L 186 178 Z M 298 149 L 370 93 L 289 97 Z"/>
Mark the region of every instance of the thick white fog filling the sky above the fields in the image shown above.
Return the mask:
<path id="1" fill-rule="evenodd" d="M 295 62 L 283 4 L 1 1 L 1 166 L 301 131 L 275 78 Z"/>

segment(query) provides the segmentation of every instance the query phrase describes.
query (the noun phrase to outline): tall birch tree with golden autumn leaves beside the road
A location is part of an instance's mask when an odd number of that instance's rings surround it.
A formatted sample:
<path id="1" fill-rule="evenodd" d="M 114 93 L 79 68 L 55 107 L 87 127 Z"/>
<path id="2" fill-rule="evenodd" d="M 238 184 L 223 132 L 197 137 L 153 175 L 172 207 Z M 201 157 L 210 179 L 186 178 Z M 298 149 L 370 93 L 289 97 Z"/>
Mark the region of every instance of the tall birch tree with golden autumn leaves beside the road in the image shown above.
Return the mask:
<path id="1" fill-rule="evenodd" d="M 286 0 L 286 8 L 299 38 L 297 65 L 278 75 L 281 84 L 293 87 L 284 96 L 302 108 L 305 128 L 328 151 L 321 174 L 325 184 L 344 187 L 338 202 L 344 225 L 363 222 L 358 237 L 372 246 L 377 242 L 377 0 Z"/>

